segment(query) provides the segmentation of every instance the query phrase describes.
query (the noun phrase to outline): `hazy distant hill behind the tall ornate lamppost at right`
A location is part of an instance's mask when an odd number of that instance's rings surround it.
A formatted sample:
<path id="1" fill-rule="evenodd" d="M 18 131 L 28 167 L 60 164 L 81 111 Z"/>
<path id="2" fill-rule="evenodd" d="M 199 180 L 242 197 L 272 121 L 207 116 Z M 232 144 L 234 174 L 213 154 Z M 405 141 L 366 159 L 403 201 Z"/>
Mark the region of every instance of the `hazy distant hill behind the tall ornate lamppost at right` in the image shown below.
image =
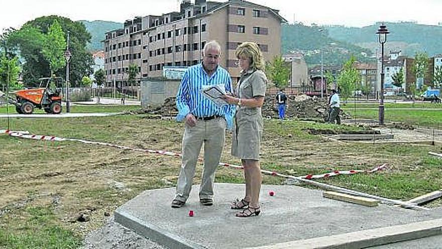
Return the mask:
<path id="1" fill-rule="evenodd" d="M 363 28 L 328 26 L 330 38 L 346 41 L 375 52 L 379 48 L 376 32 L 381 23 Z M 401 50 L 403 55 L 413 57 L 425 51 L 429 56 L 442 53 L 442 26 L 421 25 L 413 22 L 385 23 L 390 34 L 385 51 Z"/>

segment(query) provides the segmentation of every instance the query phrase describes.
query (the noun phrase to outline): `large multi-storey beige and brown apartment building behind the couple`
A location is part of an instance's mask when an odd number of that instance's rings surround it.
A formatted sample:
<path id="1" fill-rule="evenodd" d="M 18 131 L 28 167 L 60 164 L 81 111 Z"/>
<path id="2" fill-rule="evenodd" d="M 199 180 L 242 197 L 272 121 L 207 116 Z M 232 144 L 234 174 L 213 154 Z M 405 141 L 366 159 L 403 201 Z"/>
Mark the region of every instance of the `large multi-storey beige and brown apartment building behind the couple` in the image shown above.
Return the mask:
<path id="1" fill-rule="evenodd" d="M 123 29 L 106 33 L 104 42 L 107 86 L 127 86 L 129 65 L 141 78 L 163 76 L 164 66 L 190 66 L 200 62 L 205 43 L 222 46 L 220 65 L 239 78 L 235 49 L 245 41 L 259 44 L 266 60 L 281 53 L 281 23 L 277 10 L 242 0 L 182 1 L 180 12 L 136 17 Z"/>

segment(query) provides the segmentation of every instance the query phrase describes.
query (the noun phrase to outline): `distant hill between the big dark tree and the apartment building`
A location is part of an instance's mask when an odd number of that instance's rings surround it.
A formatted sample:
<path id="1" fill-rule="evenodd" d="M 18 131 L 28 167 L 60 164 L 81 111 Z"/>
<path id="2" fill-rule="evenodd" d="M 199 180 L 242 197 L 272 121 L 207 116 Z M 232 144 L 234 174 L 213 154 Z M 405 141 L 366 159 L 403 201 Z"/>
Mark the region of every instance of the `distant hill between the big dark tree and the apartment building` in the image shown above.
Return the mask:
<path id="1" fill-rule="evenodd" d="M 92 38 L 87 49 L 90 51 L 103 50 L 104 33 L 123 28 L 122 23 L 110 22 L 110 21 L 80 21 L 86 26 L 86 30 L 90 33 Z"/>

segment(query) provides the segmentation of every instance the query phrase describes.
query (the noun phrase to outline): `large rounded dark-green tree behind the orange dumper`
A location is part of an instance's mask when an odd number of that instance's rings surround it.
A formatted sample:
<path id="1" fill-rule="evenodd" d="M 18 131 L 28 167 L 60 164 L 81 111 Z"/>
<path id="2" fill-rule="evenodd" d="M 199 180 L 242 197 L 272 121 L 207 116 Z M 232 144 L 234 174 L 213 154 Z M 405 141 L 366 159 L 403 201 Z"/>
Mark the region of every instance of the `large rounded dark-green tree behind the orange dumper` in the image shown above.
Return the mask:
<path id="1" fill-rule="evenodd" d="M 86 50 L 90 41 L 90 34 L 80 22 L 72 22 L 68 18 L 59 16 L 40 17 L 27 22 L 23 27 L 11 34 L 9 42 L 20 54 L 23 64 L 23 81 L 28 87 L 36 86 L 40 77 L 51 75 L 50 64 L 43 55 L 45 35 L 48 34 L 51 25 L 57 20 L 61 29 L 66 34 L 70 32 L 69 50 L 70 81 L 71 86 L 80 86 L 83 75 L 92 73 L 92 55 Z M 63 52 L 66 47 L 63 48 Z M 54 71 L 57 76 L 65 78 L 65 68 Z"/>

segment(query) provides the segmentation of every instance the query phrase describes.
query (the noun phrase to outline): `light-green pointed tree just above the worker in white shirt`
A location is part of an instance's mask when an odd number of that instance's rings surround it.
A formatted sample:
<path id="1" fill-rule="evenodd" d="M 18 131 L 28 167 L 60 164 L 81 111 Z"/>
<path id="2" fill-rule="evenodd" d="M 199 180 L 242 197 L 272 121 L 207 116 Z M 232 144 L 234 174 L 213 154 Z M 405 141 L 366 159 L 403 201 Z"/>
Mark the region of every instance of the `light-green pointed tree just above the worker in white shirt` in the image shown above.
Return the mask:
<path id="1" fill-rule="evenodd" d="M 338 76 L 338 87 L 341 90 L 341 95 L 345 101 L 347 101 L 355 91 L 356 83 L 361 81 L 361 75 L 354 66 L 355 61 L 356 57 L 351 55 Z"/>

